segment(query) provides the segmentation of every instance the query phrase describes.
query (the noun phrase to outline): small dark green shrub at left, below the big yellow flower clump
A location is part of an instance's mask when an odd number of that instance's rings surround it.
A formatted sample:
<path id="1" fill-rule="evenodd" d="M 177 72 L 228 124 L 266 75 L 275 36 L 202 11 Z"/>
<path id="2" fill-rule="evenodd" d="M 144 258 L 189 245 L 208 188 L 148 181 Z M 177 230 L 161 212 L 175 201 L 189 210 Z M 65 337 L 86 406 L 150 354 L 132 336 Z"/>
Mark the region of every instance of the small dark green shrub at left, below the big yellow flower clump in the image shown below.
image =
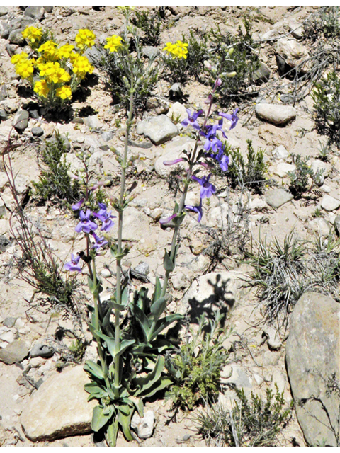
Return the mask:
<path id="1" fill-rule="evenodd" d="M 46 169 L 41 171 L 38 183 L 33 182 L 33 195 L 42 202 L 52 197 L 66 199 L 69 203 L 79 200 L 79 181 L 69 176 L 70 165 L 64 156 L 66 151 L 59 132 L 52 140 L 45 142 L 41 149 L 41 159 Z"/>

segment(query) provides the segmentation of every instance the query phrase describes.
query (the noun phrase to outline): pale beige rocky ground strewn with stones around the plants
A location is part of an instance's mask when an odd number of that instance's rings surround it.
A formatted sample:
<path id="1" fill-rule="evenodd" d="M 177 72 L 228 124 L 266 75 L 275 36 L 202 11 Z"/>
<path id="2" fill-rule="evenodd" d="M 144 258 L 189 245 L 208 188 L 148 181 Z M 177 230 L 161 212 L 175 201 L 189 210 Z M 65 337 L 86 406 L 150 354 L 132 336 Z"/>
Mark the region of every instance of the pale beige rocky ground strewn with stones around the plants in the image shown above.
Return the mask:
<path id="1" fill-rule="evenodd" d="M 242 23 L 248 8 L 171 6 L 166 9 L 166 16 L 174 24 L 163 32 L 162 44 L 179 39 L 188 29 L 204 30 L 207 17 L 211 27 L 220 25 L 221 29 L 235 29 Z M 339 304 L 329 297 L 308 293 L 293 311 L 290 328 L 278 329 L 275 324 L 268 324 L 254 290 L 244 287 L 243 279 L 251 272 L 251 267 L 242 261 L 238 247 L 242 239 L 235 231 L 249 226 L 246 236 L 246 248 L 249 249 L 251 238 L 255 242 L 259 234 L 262 238 L 267 236 L 267 241 L 277 238 L 282 242 L 294 229 L 297 239 L 310 240 L 315 232 L 326 237 L 336 224 L 340 207 L 339 156 L 334 148 L 328 161 L 318 159 L 320 141 L 327 142 L 327 137 L 317 133 L 312 98 L 307 93 L 294 105 L 289 101 L 285 103 L 290 81 L 278 74 L 280 59 L 294 67 L 311 52 L 312 43 L 305 40 L 300 25 L 316 13 L 317 8 L 263 6 L 251 9 L 254 39 L 261 40 L 261 61 L 269 75 L 259 88 L 257 98 L 239 105 L 239 123 L 228 136 L 232 148 L 239 147 L 242 154 L 246 152 L 246 139 L 252 140 L 254 149 L 265 149 L 268 187 L 261 195 L 244 193 L 242 197 L 237 190 L 222 191 L 205 204 L 200 224 L 195 215 L 186 216 L 176 270 L 171 276 L 173 301 L 170 311 L 191 313 L 193 317 L 193 314 L 211 312 L 221 304 L 228 306 L 228 325 L 234 330 L 225 344 L 226 348 L 231 348 L 222 372 L 228 377 L 227 384 L 244 388 L 246 394 L 254 391 L 261 395 L 277 384 L 288 403 L 293 396 L 297 401 L 313 394 L 324 395 L 325 379 L 333 373 L 339 378 Z M 21 96 L 21 82 L 10 62 L 11 55 L 23 45 L 18 30 L 40 23 L 42 28 L 53 30 L 57 42 L 64 42 L 73 40 L 79 28 L 94 30 L 100 37 L 118 33 L 123 25 L 122 14 L 113 6 L 96 11 L 88 6 L 45 6 L 28 12 L 16 6 L 0 8 L 0 145 L 3 149 L 12 124 L 17 122 L 18 115 L 23 115 L 28 102 Z M 91 115 L 77 121 L 47 122 L 39 114 L 30 113 L 26 123 L 23 122 L 25 127 L 12 132 L 13 141 L 20 145 L 12 155 L 19 194 L 25 195 L 31 181 L 37 180 L 40 167 L 36 149 L 43 139 L 52 137 L 55 130 L 68 139 L 66 158 L 71 168 L 77 169 L 81 165 L 77 151 L 87 149 L 91 153 L 91 169 L 98 178 L 103 173 L 113 178 L 117 176 L 118 163 L 110 147 L 122 147 L 125 112 L 113 107 L 101 74 L 95 72 L 99 76 L 98 84 L 91 87 L 85 101 L 73 103 L 74 112 L 91 105 Z M 161 217 L 171 214 L 174 206 L 174 194 L 166 179 L 171 168 L 164 168 L 162 162 L 176 159 L 192 143 L 180 122 L 174 125 L 171 118 L 181 121 L 186 117 L 186 108 L 204 107 L 209 89 L 197 81 L 190 81 L 182 88 L 185 101 L 174 103 L 169 98 L 170 88 L 171 84 L 164 80 L 157 84 L 154 98 L 162 108 L 151 107 L 137 117 L 131 137 L 131 152 L 138 154 L 139 159 L 135 163 L 135 173 L 130 175 L 131 183 L 137 180 L 135 200 L 126 210 L 124 224 L 123 239 L 132 243 L 132 249 L 123 264 L 125 268 L 136 268 L 140 263 L 147 263 L 143 266 L 149 268 L 150 287 L 157 276 L 162 276 L 164 247 L 169 247 L 172 236 L 171 230 L 160 229 L 158 222 Z M 288 190 L 288 172 L 296 168 L 296 154 L 309 156 L 310 166 L 315 171 L 324 170 L 324 182 L 319 192 L 307 203 L 304 197 L 294 199 Z M 214 178 L 217 187 L 225 187 L 225 180 Z M 87 395 L 83 391 L 86 374 L 81 364 L 68 361 L 68 347 L 75 338 L 72 319 L 65 320 L 57 311 L 44 313 L 42 307 L 34 308 L 33 289 L 20 279 L 18 270 L 13 267 L 13 256 L 19 250 L 10 231 L 8 208 L 13 206 L 13 200 L 2 167 L 0 191 L 0 238 L 1 244 L 4 243 L 0 249 L 0 445 L 104 446 L 91 434 L 91 404 L 86 403 Z M 117 193 L 118 184 L 108 188 L 109 196 Z M 198 202 L 198 191 L 192 190 L 188 205 Z M 237 214 L 240 202 L 248 223 L 237 223 L 235 216 L 227 217 L 230 212 Z M 317 208 L 321 214 L 316 217 L 313 214 Z M 84 237 L 74 232 L 77 220 L 69 210 L 53 203 L 38 206 L 33 202 L 28 203 L 25 210 L 30 221 L 45 231 L 47 243 L 62 260 L 68 260 L 71 251 L 81 250 Z M 213 254 L 207 251 L 211 251 L 216 242 L 213 231 L 222 234 L 221 215 L 233 253 L 216 263 Z M 115 282 L 109 251 L 99 263 L 104 294 L 108 297 Z M 136 289 L 140 285 L 137 280 L 132 283 Z M 90 340 L 84 321 L 81 328 Z M 77 329 L 79 332 L 79 326 Z M 86 349 L 84 360 L 91 357 L 96 357 L 94 344 Z M 313 374 L 311 370 L 315 369 L 318 372 Z M 226 387 L 225 394 L 220 395 L 221 401 L 224 399 L 228 403 L 232 396 L 230 392 Z M 327 405 L 331 420 L 336 420 L 336 401 L 332 405 L 327 400 Z M 154 420 L 151 413 L 152 420 L 148 422 L 154 423 L 152 437 L 126 442 L 120 435 L 118 447 L 205 446 L 194 429 L 193 413 L 180 412 L 171 420 L 169 402 L 153 401 L 147 403 L 146 408 L 154 414 Z M 317 401 L 310 401 L 308 411 L 300 407 L 297 413 L 293 411 L 293 419 L 278 436 L 278 446 L 305 447 L 322 442 L 336 445 L 331 430 L 320 428 L 320 423 L 315 421 L 319 418 L 327 424 Z"/>

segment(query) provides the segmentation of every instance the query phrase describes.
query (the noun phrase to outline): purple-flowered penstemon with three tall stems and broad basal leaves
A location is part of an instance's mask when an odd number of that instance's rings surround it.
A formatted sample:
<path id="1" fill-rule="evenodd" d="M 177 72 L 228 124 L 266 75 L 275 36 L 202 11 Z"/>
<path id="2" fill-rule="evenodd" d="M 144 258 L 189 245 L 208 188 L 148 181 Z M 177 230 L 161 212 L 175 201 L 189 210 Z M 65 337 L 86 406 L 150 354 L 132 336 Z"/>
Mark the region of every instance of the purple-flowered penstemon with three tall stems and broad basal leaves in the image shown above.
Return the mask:
<path id="1" fill-rule="evenodd" d="M 127 21 L 128 12 L 124 10 Z M 112 52 L 119 49 L 121 45 L 121 40 L 117 38 L 107 40 L 108 46 L 114 48 Z M 171 250 L 164 253 L 164 279 L 161 282 L 157 277 L 151 298 L 148 297 L 145 287 L 130 297 L 122 269 L 122 259 L 129 253 L 129 248 L 123 246 L 123 213 L 132 200 L 131 192 L 137 185 L 133 183 L 130 188 L 127 188 L 126 171 L 133 164 L 134 159 L 133 156 L 129 156 L 128 142 L 135 108 L 135 92 L 141 82 L 142 80 L 136 79 L 133 72 L 130 74 L 130 80 L 125 78 L 124 81 L 128 88 L 129 107 L 123 155 L 115 151 L 120 164 L 120 193 L 118 199 L 113 201 L 117 217 L 108 211 L 105 203 L 99 203 L 97 212 L 89 209 L 89 195 L 96 190 L 96 186 L 85 190 L 84 198 L 72 208 L 79 211 L 80 222 L 76 226 L 76 231 L 85 234 L 86 244 L 84 251 L 77 256 L 72 254 L 71 261 L 65 265 L 65 269 L 69 272 L 81 273 L 87 269 L 89 289 L 94 299 L 93 306 L 89 305 L 91 311 L 89 329 L 97 343 L 98 361 L 88 360 L 84 365 L 85 371 L 91 378 L 85 390 L 89 393 L 89 401 L 98 400 L 91 427 L 95 432 L 99 430 L 105 432 L 106 442 L 110 447 L 115 447 L 119 430 L 123 431 L 127 440 L 134 438 L 130 429 L 133 413 L 137 410 L 142 417 L 145 398 L 153 396 L 172 383 L 165 374 L 164 362 L 166 350 L 173 346 L 162 336 L 162 332 L 172 323 L 182 319 L 181 314 L 164 314 L 171 299 L 167 293 L 167 287 L 171 272 L 175 268 L 176 253 L 179 250 L 179 230 L 189 211 L 197 212 L 198 221 L 200 221 L 203 216 L 202 200 L 216 191 L 215 186 L 210 183 L 211 174 L 200 178 L 197 176 L 198 168 L 212 168 L 213 164 L 219 164 L 223 171 L 227 171 L 228 157 L 224 152 L 224 145 L 217 137 L 217 133 L 220 132 L 226 138 L 222 130 L 223 117 L 232 122 L 231 127 L 234 127 L 238 120 L 237 110 L 235 110 L 232 115 L 220 113 L 221 118 L 216 125 L 208 124 L 214 93 L 220 84 L 220 79 L 215 82 L 212 93 L 206 101 L 208 111 L 203 125 L 198 122 L 203 110 L 193 114 L 187 110 L 188 119 L 182 124 L 193 127 L 196 133 L 196 145 L 193 151 L 186 153 L 183 158 L 164 162 L 165 165 L 176 164 L 179 161 L 188 163 L 186 176 L 183 178 L 181 201 L 179 204 L 175 203 L 174 213 L 169 218 L 160 221 L 162 225 L 171 223 L 174 226 Z M 202 139 L 205 142 L 204 145 Z M 194 181 L 200 185 L 200 204 L 189 206 L 186 205 L 186 195 L 189 185 Z M 87 209 L 82 210 L 83 206 Z M 116 241 L 108 235 L 108 231 L 114 225 L 114 219 L 118 219 Z M 101 236 L 98 233 L 99 227 Z M 111 254 L 116 261 L 116 285 L 113 297 L 103 304 L 101 302 L 103 286 L 96 271 L 96 258 L 106 246 L 110 246 Z M 123 314 L 127 313 L 130 313 L 130 316 L 124 316 L 123 323 Z"/>

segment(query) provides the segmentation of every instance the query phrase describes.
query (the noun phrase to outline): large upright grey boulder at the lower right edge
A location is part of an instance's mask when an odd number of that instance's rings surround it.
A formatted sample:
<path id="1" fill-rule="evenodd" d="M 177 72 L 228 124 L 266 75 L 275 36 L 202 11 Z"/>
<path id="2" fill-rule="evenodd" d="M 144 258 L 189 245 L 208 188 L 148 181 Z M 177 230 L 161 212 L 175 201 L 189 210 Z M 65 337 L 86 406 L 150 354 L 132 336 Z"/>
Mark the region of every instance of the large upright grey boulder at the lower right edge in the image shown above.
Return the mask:
<path id="1" fill-rule="evenodd" d="M 330 423 L 339 432 L 340 395 L 329 394 L 327 384 L 332 377 L 340 381 L 339 324 L 340 304 L 315 292 L 303 294 L 291 316 L 288 377 L 297 420 L 310 447 L 337 446 Z"/>

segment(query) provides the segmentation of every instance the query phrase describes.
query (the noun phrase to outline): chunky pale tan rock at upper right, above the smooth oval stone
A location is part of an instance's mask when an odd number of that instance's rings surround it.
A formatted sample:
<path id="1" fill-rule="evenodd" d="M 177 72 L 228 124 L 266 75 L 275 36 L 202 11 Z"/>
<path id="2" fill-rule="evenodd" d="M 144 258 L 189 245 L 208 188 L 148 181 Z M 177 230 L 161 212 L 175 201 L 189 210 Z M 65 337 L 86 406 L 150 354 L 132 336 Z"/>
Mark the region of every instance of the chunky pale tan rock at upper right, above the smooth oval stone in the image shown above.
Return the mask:
<path id="1" fill-rule="evenodd" d="M 289 40 L 288 38 L 279 39 L 276 43 L 276 55 L 283 59 L 289 68 L 296 68 L 301 64 L 299 67 L 301 72 L 307 72 L 310 69 L 310 63 L 305 62 L 302 64 L 310 56 L 306 47 L 300 42 Z"/>

